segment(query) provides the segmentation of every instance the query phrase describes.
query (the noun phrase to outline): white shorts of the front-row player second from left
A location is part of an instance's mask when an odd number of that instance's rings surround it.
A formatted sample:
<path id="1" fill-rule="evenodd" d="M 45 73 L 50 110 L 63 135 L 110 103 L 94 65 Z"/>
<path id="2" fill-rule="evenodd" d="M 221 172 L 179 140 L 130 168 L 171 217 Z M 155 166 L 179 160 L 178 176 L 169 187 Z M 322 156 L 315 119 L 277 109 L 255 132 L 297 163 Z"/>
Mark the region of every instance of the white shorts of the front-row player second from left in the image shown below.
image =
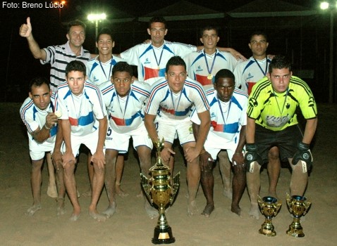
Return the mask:
<path id="1" fill-rule="evenodd" d="M 90 152 L 92 153 L 92 155 L 94 155 L 94 153 L 96 152 L 97 149 L 97 143 L 98 143 L 98 129 L 94 132 L 92 132 L 91 134 L 87 134 L 85 136 L 74 136 L 71 135 L 71 148 L 73 149 L 73 155 L 76 157 L 79 149 L 80 149 L 80 145 L 84 144 L 85 146 L 87 146 L 87 148 L 90 150 Z M 63 153 L 66 151 L 66 145 L 62 144 L 62 148 Z M 103 148 L 103 152 L 105 153 L 105 148 Z"/>

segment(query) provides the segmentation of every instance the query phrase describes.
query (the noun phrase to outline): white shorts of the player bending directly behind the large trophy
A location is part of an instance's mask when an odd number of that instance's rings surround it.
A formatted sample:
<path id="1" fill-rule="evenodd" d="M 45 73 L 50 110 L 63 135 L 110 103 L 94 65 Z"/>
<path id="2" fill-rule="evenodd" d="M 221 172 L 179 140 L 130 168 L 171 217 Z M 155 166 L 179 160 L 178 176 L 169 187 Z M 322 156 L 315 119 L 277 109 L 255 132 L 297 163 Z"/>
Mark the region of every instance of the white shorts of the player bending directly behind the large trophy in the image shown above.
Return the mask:
<path id="1" fill-rule="evenodd" d="M 178 134 L 180 145 L 195 142 L 190 119 L 158 119 L 159 139 L 164 137 L 164 141 L 173 143 Z"/>

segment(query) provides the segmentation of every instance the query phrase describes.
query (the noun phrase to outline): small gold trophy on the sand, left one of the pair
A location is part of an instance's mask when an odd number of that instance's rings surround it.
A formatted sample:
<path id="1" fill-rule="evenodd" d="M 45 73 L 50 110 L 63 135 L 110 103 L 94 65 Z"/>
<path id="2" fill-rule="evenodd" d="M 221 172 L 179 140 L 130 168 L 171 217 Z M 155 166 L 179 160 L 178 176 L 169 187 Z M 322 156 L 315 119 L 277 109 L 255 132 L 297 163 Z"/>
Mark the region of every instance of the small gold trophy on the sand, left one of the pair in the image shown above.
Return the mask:
<path id="1" fill-rule="evenodd" d="M 264 215 L 264 217 L 266 217 L 264 224 L 262 224 L 259 229 L 259 233 L 269 237 L 274 237 L 274 235 L 276 235 L 276 231 L 274 230 L 273 224 L 271 224 L 271 218 L 278 214 L 282 203 L 278 202 L 276 198 L 271 196 L 266 196 L 264 198 L 259 196 L 257 203 L 259 204 L 259 211 Z"/>

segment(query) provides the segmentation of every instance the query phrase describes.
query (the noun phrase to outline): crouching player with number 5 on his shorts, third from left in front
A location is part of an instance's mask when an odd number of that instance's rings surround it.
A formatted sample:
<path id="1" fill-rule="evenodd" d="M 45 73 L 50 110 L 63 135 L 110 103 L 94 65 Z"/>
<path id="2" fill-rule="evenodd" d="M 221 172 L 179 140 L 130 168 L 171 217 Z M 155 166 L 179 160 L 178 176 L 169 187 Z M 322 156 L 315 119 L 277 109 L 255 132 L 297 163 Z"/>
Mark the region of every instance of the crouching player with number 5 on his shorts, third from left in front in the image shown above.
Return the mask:
<path id="1" fill-rule="evenodd" d="M 108 193 L 109 206 L 104 212 L 112 216 L 116 209 L 116 158 L 118 153 L 127 153 L 130 138 L 137 150 L 142 174 L 148 176 L 151 166 L 152 141 L 144 124 L 144 106 L 149 97 L 149 85 L 134 81 L 133 70 L 128 63 L 118 62 L 112 69 L 111 82 L 101 84 L 109 117 L 109 129 L 106 134 L 106 175 L 105 187 Z M 158 216 L 145 200 L 147 214 L 154 218 Z"/>

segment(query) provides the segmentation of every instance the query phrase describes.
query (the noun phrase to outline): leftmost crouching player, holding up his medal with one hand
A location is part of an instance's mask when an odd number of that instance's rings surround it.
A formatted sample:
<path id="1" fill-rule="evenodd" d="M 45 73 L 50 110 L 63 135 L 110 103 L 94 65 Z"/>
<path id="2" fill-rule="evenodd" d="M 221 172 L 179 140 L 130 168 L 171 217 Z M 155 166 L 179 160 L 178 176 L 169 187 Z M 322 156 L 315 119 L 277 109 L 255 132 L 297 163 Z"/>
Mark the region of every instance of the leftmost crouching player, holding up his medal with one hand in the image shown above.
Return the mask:
<path id="1" fill-rule="evenodd" d="M 32 170 L 30 183 L 32 186 L 33 205 L 27 209 L 27 215 L 32 216 L 41 205 L 42 164 L 45 153 L 54 151 L 58 117 L 54 114 L 54 94 L 51 93 L 49 82 L 42 77 L 36 77 L 30 82 L 29 97 L 20 108 L 20 116 L 27 127 L 30 158 Z M 62 139 L 59 139 L 60 147 Z M 59 150 L 58 150 L 59 152 Z M 54 163 L 55 164 L 55 163 Z M 64 213 L 63 198 L 65 189 L 63 185 L 63 170 L 56 167 L 56 184 L 59 188 L 57 214 Z M 54 171 L 54 168 L 53 170 Z"/>

